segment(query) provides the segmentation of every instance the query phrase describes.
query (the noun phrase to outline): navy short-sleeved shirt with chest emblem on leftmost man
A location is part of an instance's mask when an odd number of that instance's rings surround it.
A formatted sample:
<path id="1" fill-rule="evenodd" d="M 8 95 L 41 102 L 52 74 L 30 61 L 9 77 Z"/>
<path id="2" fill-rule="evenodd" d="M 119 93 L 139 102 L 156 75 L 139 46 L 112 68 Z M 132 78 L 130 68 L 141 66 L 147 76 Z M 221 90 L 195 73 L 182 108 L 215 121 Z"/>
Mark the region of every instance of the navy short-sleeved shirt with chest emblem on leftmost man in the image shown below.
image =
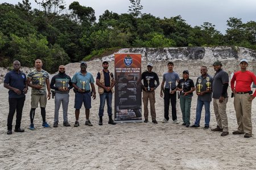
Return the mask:
<path id="1" fill-rule="evenodd" d="M 9 98 L 25 97 L 25 95 L 23 94 L 23 90 L 25 88 L 26 81 L 27 81 L 26 74 L 22 73 L 21 71 L 19 72 L 16 72 L 14 70 L 9 71 L 5 75 L 5 80 L 3 81 L 3 83 L 9 84 L 9 86 L 17 88 L 22 92 L 22 94 L 18 95 L 13 90 L 9 90 L 8 92 Z"/>

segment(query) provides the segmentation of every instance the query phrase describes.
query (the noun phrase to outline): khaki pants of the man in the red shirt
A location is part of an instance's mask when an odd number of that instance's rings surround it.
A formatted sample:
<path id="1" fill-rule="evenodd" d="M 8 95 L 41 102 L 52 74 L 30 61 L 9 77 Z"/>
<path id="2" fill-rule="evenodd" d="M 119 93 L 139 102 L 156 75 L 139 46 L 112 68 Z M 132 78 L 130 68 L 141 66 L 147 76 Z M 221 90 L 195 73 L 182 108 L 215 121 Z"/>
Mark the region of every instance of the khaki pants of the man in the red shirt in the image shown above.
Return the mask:
<path id="1" fill-rule="evenodd" d="M 238 131 L 252 134 L 251 101 L 249 94 L 236 94 L 234 96 L 234 108 L 236 110 Z"/>

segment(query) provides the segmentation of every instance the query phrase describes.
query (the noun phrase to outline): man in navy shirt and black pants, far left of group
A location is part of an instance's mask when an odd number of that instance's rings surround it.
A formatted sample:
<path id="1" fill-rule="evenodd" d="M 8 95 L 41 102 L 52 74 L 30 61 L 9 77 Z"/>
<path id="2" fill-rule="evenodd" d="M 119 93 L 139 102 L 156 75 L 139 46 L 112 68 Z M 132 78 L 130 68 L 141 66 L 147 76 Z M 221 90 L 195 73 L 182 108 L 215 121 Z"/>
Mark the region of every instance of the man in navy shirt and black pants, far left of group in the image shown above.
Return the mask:
<path id="1" fill-rule="evenodd" d="M 24 129 L 20 128 L 20 122 L 22 120 L 22 110 L 25 101 L 25 94 L 27 94 L 27 79 L 26 74 L 20 70 L 20 62 L 13 62 L 13 70 L 9 71 L 5 75 L 3 87 L 9 89 L 9 114 L 7 119 L 7 133 L 13 133 L 13 117 L 16 111 L 16 125 L 15 132 L 24 132 Z"/>

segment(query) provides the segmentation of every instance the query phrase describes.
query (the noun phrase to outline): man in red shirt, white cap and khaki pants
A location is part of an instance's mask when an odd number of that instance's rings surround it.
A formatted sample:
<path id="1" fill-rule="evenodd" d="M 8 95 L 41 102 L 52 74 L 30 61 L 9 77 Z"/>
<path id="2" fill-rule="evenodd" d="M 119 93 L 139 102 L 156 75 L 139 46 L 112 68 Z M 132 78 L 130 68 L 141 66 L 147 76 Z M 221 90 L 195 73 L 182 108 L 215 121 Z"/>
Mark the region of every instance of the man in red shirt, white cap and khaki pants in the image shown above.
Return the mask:
<path id="1" fill-rule="evenodd" d="M 254 94 L 251 91 L 251 83 L 256 83 L 256 76 L 254 73 L 246 70 L 247 66 L 247 59 L 242 59 L 240 61 L 241 71 L 234 73 L 231 80 L 231 89 L 234 93 L 234 108 L 238 124 L 238 129 L 233 131 L 233 134 L 245 133 L 244 137 L 250 138 L 253 131 L 251 124 L 251 101 L 256 96 L 256 91 Z M 234 82 L 236 82 L 236 87 L 234 87 Z"/>

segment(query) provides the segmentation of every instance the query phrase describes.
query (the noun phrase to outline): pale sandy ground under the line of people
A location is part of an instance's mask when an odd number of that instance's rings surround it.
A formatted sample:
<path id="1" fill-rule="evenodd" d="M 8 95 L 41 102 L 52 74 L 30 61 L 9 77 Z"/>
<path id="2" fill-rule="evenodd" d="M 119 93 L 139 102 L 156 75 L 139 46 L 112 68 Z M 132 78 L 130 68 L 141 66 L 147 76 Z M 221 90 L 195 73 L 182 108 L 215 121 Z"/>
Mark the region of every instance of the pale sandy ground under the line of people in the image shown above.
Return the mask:
<path id="1" fill-rule="evenodd" d="M 0 84 L 0 169 L 255 169 L 255 136 L 246 139 L 233 135 L 236 116 L 233 99 L 228 102 L 230 134 L 221 137 L 210 129 L 192 129 L 172 124 L 162 124 L 164 103 L 160 88 L 156 90 L 156 118 L 152 122 L 98 126 L 99 96 L 92 102 L 90 120 L 92 127 L 84 125 L 85 110 L 81 109 L 80 126 L 74 128 L 74 93 L 70 93 L 68 109 L 71 127 L 43 128 L 42 117 L 36 109 L 35 131 L 30 125 L 30 91 L 23 109 L 24 133 L 6 135 L 9 111 L 7 90 Z M 230 94 L 230 90 L 229 90 Z M 195 122 L 196 95 L 191 107 L 191 124 Z M 114 100 L 113 100 L 114 101 Z M 256 129 L 256 100 L 253 101 L 253 133 Z M 105 106 L 106 108 L 106 106 Z M 47 103 L 47 121 L 53 124 L 54 100 Z M 143 109 L 142 109 L 143 110 Z M 204 112 L 201 126 L 204 126 Z M 60 122 L 63 122 L 60 111 Z M 181 122 L 179 100 L 177 117 Z M 211 105 L 210 128 L 216 127 Z M 151 120 L 151 117 L 149 117 Z M 14 124 L 15 125 L 15 118 Z"/>

